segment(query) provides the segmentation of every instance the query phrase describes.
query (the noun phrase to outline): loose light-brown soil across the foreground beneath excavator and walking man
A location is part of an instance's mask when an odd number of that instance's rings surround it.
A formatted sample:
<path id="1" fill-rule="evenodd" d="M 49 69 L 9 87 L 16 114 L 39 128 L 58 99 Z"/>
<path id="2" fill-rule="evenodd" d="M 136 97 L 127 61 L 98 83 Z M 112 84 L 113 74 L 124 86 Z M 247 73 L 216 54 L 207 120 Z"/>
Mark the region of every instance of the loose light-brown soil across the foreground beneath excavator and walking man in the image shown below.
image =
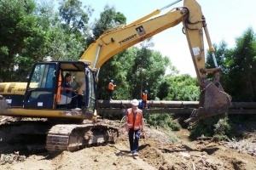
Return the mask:
<path id="1" fill-rule="evenodd" d="M 1 154 L 1 169 L 7 170 L 71 170 L 71 169 L 256 169 L 256 135 L 230 142 L 214 142 L 211 138 L 189 140 L 189 131 L 168 132 L 145 127 L 140 139 L 139 156 L 131 156 L 127 133 L 120 128 L 115 144 L 84 148 L 61 153 L 43 152 L 18 156 L 19 153 Z M 0 142 L 1 143 L 1 142 Z M 15 147 L 15 146 L 12 146 Z M 4 147 L 0 148 L 3 153 Z M 19 151 L 19 150 L 16 150 Z M 13 161 L 3 161 L 13 156 Z M 19 159 L 18 159 L 19 158 Z"/>

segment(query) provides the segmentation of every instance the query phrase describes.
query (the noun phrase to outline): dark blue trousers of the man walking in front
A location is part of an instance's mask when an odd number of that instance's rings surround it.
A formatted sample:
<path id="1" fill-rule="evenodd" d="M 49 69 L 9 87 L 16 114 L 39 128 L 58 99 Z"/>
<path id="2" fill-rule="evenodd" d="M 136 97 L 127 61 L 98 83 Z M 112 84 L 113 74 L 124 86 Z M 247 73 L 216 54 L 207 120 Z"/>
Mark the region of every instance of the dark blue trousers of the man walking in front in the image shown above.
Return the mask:
<path id="1" fill-rule="evenodd" d="M 141 135 L 141 130 L 133 130 L 129 129 L 129 143 L 130 143 L 130 150 L 131 153 L 137 152 L 138 151 L 138 142 L 140 139 Z"/>

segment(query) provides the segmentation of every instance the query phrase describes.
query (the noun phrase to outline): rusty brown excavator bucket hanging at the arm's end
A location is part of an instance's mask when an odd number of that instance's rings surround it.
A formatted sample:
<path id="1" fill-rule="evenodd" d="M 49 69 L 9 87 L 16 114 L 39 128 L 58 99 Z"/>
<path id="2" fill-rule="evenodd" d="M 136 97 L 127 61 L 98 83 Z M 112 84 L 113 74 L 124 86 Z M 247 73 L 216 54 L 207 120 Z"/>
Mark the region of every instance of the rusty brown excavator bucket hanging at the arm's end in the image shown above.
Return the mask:
<path id="1" fill-rule="evenodd" d="M 207 82 L 201 91 L 199 108 L 192 111 L 185 122 L 195 122 L 205 117 L 215 116 L 227 112 L 231 105 L 231 97 L 224 92 L 219 82 Z"/>

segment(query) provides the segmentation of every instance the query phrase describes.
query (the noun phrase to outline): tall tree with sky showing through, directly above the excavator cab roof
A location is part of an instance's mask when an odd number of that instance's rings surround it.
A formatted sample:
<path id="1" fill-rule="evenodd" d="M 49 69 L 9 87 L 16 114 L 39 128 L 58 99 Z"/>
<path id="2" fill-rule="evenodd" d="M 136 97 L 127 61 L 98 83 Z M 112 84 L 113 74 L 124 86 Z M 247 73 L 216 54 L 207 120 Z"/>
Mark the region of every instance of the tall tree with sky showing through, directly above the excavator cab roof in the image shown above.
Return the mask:
<path id="1" fill-rule="evenodd" d="M 59 7 L 61 29 L 64 32 L 66 56 L 61 59 L 79 59 L 88 48 L 90 39 L 89 20 L 94 9 L 83 6 L 79 0 L 62 0 Z"/>

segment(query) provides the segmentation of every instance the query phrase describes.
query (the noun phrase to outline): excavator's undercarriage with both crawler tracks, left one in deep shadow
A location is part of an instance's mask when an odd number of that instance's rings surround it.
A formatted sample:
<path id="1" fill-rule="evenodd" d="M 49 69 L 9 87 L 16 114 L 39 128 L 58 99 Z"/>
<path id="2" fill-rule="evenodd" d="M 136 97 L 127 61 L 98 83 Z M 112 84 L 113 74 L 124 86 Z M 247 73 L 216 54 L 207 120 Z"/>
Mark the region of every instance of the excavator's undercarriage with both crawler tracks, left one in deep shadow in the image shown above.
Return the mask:
<path id="1" fill-rule="evenodd" d="M 1 119 L 3 120 L 3 119 Z M 98 120 L 80 124 L 56 124 L 47 119 L 8 118 L 0 123 L 1 153 L 22 154 L 76 151 L 85 147 L 113 144 L 119 137 L 119 122 Z"/>

